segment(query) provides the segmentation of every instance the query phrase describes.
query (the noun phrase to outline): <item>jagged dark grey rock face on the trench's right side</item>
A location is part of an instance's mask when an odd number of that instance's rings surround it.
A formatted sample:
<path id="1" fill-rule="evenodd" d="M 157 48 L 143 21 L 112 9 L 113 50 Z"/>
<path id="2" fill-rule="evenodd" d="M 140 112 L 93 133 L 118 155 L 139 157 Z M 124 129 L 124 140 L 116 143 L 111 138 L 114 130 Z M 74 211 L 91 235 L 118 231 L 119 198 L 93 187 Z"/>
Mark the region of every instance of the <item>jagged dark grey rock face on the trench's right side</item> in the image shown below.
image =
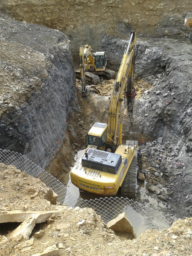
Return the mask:
<path id="1" fill-rule="evenodd" d="M 172 42 L 165 38 L 163 42 L 164 47 L 157 41 L 137 41 L 135 73 L 151 84 L 152 90 L 143 93 L 137 100 L 135 124 L 131 126 L 131 132 L 154 138 L 161 136 L 174 143 L 183 136 L 185 141 L 191 141 L 192 73 L 190 68 L 186 68 L 192 64 L 191 44 L 178 45 L 177 40 Z M 128 41 L 104 37 L 104 51 L 108 52 L 111 67 L 119 67 L 126 43 Z M 124 130 L 125 133 L 130 134 L 130 128 Z"/>

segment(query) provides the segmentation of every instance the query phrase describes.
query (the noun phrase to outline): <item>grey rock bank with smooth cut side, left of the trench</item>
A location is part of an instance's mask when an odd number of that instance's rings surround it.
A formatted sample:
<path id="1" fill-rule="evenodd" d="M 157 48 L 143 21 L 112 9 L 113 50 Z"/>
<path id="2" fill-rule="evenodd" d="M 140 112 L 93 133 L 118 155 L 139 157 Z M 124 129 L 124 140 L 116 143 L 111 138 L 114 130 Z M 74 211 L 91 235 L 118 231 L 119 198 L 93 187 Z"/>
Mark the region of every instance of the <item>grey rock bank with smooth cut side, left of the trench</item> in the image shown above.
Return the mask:
<path id="1" fill-rule="evenodd" d="M 45 168 L 65 139 L 75 81 L 69 41 L 58 30 L 1 18 L 0 148 Z"/>

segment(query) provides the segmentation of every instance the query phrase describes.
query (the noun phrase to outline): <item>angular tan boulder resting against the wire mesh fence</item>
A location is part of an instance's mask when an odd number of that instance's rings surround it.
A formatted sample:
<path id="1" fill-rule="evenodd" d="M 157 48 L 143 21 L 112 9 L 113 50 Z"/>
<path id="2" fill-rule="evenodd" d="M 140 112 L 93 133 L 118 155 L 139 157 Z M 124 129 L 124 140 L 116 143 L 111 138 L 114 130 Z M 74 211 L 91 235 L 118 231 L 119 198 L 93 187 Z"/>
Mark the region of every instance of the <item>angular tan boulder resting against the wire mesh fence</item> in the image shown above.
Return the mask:
<path id="1" fill-rule="evenodd" d="M 132 224 L 125 212 L 119 214 L 114 220 L 110 220 L 107 223 L 107 228 L 110 228 L 114 232 L 118 233 L 132 234 L 133 238 L 136 238 Z"/>

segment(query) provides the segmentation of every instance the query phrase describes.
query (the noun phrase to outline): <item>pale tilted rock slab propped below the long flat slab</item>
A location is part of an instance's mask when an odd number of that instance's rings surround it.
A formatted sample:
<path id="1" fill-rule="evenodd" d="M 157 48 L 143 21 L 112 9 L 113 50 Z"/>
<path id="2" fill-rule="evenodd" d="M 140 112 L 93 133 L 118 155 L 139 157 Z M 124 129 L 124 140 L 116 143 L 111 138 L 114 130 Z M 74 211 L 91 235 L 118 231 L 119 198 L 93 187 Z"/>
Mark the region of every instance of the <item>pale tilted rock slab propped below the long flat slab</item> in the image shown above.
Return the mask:
<path id="1" fill-rule="evenodd" d="M 33 228 L 35 227 L 35 218 L 29 217 L 27 220 L 23 221 L 19 227 L 17 227 L 13 232 L 10 234 L 9 238 L 13 238 L 16 236 L 23 235 L 24 239 L 29 239 Z"/>

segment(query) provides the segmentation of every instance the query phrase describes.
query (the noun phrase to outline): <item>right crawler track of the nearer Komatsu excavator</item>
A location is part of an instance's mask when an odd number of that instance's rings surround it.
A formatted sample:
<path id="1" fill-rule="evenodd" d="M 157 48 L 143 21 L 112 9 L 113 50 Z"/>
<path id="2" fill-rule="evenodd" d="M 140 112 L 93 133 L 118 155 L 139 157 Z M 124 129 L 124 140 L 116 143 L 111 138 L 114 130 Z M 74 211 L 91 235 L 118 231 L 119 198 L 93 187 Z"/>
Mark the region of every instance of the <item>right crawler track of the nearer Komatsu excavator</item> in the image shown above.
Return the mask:
<path id="1" fill-rule="evenodd" d="M 126 146 L 130 145 L 129 143 L 132 143 L 132 141 L 130 142 L 130 140 L 127 140 Z M 135 144 L 138 146 L 138 141 L 135 140 Z M 135 148 L 135 155 L 133 156 L 133 160 L 121 186 L 121 196 L 123 197 L 135 197 L 137 179 L 137 150 L 138 148 Z"/>

